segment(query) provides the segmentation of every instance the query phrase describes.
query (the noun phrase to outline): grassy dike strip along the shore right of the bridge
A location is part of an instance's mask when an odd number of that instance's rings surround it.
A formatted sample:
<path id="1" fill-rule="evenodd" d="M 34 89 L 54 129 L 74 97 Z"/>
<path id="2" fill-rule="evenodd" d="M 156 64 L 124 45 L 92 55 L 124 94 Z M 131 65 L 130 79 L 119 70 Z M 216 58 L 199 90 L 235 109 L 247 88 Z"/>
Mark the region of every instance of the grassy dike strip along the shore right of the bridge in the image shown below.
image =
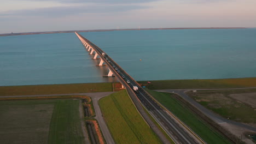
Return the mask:
<path id="1" fill-rule="evenodd" d="M 139 81 L 149 89 L 185 89 L 185 88 L 237 88 L 256 87 L 256 77 L 241 79 L 211 79 L 211 80 L 157 80 Z"/>

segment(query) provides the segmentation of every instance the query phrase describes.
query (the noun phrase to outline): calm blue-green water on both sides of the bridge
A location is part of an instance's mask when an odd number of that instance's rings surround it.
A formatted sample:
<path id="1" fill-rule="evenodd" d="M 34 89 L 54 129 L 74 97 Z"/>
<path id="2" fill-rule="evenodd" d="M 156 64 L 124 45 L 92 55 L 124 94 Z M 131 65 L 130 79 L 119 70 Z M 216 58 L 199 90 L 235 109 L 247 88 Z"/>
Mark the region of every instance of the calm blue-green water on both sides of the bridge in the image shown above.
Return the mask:
<path id="1" fill-rule="evenodd" d="M 80 34 L 136 80 L 256 77 L 253 28 Z M 0 37 L 0 86 L 115 81 L 91 58 L 74 33 Z"/>

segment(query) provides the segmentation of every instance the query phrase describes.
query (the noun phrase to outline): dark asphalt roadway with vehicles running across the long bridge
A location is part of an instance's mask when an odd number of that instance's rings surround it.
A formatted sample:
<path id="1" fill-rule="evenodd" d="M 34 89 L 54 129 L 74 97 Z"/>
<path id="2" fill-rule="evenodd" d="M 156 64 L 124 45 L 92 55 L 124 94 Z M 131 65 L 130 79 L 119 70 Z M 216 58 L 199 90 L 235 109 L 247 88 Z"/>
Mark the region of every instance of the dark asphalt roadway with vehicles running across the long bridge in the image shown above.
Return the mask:
<path id="1" fill-rule="evenodd" d="M 82 37 L 80 35 L 80 37 Z M 83 37 L 82 37 L 83 38 Z M 105 55 L 102 56 L 101 53 L 104 51 L 101 50 L 99 47 L 91 43 L 89 40 L 85 39 L 87 43 L 89 43 L 92 47 L 94 47 L 95 51 L 99 54 L 99 56 L 103 59 L 103 61 L 106 63 L 106 65 L 109 67 L 110 70 L 117 76 L 119 81 L 122 83 L 123 86 L 126 87 L 131 99 L 133 100 L 133 103 L 135 103 L 135 98 L 143 104 L 144 107 L 149 111 L 149 113 L 156 119 L 156 121 L 161 125 L 162 128 L 165 129 L 167 134 L 172 137 L 172 139 L 176 143 L 199 143 L 200 141 L 195 140 L 191 134 L 188 133 L 188 130 L 184 129 L 184 127 L 181 127 L 180 124 L 178 124 L 176 121 L 174 121 L 174 118 L 168 115 L 162 108 L 159 106 L 151 97 L 150 95 L 144 91 L 144 89 L 138 85 L 138 83 L 132 79 L 132 77 L 127 74 L 115 61 L 113 61 L 112 58 Z M 106 52 L 104 52 L 106 54 Z M 108 61 L 106 60 L 108 58 Z M 117 70 L 115 70 L 117 68 Z M 118 73 L 117 71 L 120 71 Z M 126 81 L 130 81 L 130 83 L 127 83 Z M 139 93 L 135 93 L 132 91 L 132 87 L 137 86 L 139 88 Z M 136 107 L 138 107 L 139 104 L 136 104 Z M 147 119 L 146 119 L 147 121 Z M 152 127 L 152 125 L 150 125 Z M 154 129 L 153 129 L 154 130 Z M 154 130 L 155 131 L 155 130 Z M 158 134 L 158 133 L 156 133 Z M 164 138 L 160 136 L 160 139 L 162 141 Z"/>

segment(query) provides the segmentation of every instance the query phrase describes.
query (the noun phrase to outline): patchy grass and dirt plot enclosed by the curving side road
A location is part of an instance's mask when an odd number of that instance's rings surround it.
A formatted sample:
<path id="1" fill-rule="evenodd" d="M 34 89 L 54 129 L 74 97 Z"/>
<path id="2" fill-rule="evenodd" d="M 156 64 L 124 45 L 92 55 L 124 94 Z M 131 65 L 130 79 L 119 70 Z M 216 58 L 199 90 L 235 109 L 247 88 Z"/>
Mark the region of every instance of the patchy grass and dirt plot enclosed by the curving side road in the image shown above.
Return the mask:
<path id="1" fill-rule="evenodd" d="M 190 97 L 194 98 L 198 103 L 205 106 L 219 115 L 232 119 L 237 122 L 256 124 L 256 111 L 255 107 L 252 107 L 243 101 L 246 98 L 246 93 L 256 92 L 256 89 L 238 89 L 238 90 L 218 90 L 218 91 L 197 91 L 196 93 L 187 93 Z M 241 94 L 242 99 L 237 100 L 231 97 L 231 94 Z M 238 95 L 241 98 L 241 95 Z M 255 104 L 251 100 L 252 103 Z"/>

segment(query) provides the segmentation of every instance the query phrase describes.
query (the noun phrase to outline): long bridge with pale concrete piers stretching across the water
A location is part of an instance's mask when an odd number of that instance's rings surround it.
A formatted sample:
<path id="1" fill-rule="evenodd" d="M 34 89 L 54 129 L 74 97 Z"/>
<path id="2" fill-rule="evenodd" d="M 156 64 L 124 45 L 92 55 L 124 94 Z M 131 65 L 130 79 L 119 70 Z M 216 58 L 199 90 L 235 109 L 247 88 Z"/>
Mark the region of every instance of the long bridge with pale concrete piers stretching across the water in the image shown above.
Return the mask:
<path id="1" fill-rule="evenodd" d="M 121 85 L 126 88 L 127 93 L 135 104 L 139 113 L 148 123 L 149 127 L 154 130 L 156 135 L 162 140 L 163 143 L 168 143 L 168 140 L 156 127 L 153 121 L 149 118 L 143 107 L 150 113 L 156 122 L 165 130 L 168 136 L 175 143 L 205 143 L 198 135 L 196 135 L 187 125 L 180 121 L 170 111 L 166 110 L 156 101 L 152 95 L 146 92 L 129 74 L 125 72 L 112 58 L 110 58 L 106 52 L 100 47 L 91 43 L 88 39 L 75 32 L 79 40 L 85 46 L 85 49 L 90 52 L 90 55 L 94 55 L 92 59 L 100 59 L 100 63 L 97 66 L 107 66 L 109 73 L 106 76 L 116 76 Z M 127 83 L 129 81 L 130 83 Z M 133 91 L 133 86 L 137 86 L 139 92 Z"/>

